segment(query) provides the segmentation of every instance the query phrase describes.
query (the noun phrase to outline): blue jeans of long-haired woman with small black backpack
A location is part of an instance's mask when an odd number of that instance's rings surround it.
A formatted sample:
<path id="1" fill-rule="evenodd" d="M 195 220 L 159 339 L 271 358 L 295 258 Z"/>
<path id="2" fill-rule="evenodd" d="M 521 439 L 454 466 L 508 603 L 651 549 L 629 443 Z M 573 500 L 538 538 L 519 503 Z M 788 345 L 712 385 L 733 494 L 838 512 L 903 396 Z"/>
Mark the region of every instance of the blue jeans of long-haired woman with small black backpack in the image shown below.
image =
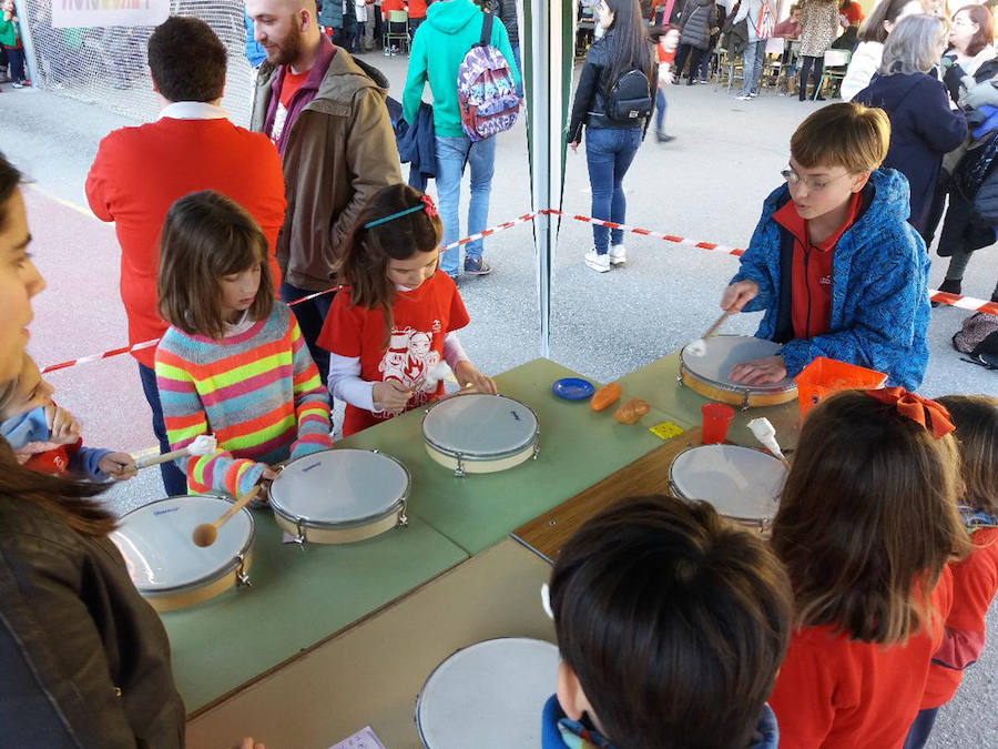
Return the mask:
<path id="1" fill-rule="evenodd" d="M 641 128 L 587 128 L 585 164 L 592 188 L 592 216 L 622 224 L 628 203 L 623 178 L 641 145 Z M 623 232 L 607 226 L 592 226 L 597 254 L 605 255 L 610 244 L 623 243 Z"/>

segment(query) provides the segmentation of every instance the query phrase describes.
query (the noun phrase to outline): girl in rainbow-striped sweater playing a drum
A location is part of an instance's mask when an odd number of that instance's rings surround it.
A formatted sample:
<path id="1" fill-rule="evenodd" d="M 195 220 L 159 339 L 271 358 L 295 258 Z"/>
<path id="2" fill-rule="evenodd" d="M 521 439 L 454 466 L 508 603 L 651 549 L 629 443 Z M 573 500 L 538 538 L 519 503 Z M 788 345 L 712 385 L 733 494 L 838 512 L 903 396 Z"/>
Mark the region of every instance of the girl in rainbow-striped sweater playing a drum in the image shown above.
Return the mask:
<path id="1" fill-rule="evenodd" d="M 156 381 L 173 449 L 214 433 L 218 449 L 177 460 L 192 493 L 245 494 L 271 464 L 333 447 L 329 396 L 291 308 L 274 300 L 267 242 L 237 203 L 192 193 L 160 246 Z"/>

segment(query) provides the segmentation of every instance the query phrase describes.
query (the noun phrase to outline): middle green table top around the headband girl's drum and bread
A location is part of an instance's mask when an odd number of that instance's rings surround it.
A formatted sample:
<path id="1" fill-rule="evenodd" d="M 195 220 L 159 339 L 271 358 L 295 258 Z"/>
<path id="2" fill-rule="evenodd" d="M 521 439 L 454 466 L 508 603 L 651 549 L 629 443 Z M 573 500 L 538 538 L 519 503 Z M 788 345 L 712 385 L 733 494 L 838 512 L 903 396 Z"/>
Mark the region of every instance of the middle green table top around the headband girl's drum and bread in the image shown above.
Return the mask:
<path id="1" fill-rule="evenodd" d="M 669 418 L 653 408 L 638 424 L 613 421 L 613 407 L 593 413 L 589 401 L 566 401 L 551 383 L 579 374 L 537 358 L 496 377 L 499 392 L 532 407 L 540 425 L 540 455 L 495 474 L 457 478 L 434 463 L 422 441 L 425 409 L 365 429 L 340 443 L 377 448 L 413 475 L 408 512 L 469 554 L 492 546 L 513 528 L 662 444 L 649 427 Z M 624 387 L 623 398 L 639 397 Z M 685 426 L 689 426 L 686 424 Z M 664 489 L 664 487 L 663 487 Z"/>

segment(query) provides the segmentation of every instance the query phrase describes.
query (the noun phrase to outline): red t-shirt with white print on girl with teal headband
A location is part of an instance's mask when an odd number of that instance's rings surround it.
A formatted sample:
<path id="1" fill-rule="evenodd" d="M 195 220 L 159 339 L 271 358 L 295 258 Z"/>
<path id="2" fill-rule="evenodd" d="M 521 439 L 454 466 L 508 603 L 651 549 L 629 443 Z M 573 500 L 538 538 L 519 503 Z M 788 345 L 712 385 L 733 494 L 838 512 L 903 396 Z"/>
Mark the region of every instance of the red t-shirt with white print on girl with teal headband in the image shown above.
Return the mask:
<path id="1" fill-rule="evenodd" d="M 437 272 L 419 289 L 396 292 L 391 305 L 394 324 L 387 351 L 385 315 L 380 308 L 352 306 L 349 289 L 333 300 L 318 345 L 337 356 L 360 357 L 360 378 L 368 382 L 396 379 L 411 387 L 444 360 L 444 336 L 468 324 L 468 311 L 446 273 Z M 406 405 L 417 408 L 444 395 L 444 383 L 424 384 Z M 348 436 L 403 412 L 371 413 L 347 404 L 343 434 Z"/>

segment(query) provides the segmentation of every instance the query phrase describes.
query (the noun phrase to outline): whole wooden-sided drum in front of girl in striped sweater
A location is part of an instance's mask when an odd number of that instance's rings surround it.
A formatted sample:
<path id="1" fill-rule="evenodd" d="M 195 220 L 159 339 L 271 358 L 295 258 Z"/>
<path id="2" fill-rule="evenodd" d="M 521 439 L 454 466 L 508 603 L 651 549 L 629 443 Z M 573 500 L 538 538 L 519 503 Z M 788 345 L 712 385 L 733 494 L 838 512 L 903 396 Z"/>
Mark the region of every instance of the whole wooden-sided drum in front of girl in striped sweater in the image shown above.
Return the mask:
<path id="1" fill-rule="evenodd" d="M 286 464 L 271 484 L 271 507 L 298 543 L 349 544 L 406 525 L 409 485 L 394 457 L 335 448 Z"/>

